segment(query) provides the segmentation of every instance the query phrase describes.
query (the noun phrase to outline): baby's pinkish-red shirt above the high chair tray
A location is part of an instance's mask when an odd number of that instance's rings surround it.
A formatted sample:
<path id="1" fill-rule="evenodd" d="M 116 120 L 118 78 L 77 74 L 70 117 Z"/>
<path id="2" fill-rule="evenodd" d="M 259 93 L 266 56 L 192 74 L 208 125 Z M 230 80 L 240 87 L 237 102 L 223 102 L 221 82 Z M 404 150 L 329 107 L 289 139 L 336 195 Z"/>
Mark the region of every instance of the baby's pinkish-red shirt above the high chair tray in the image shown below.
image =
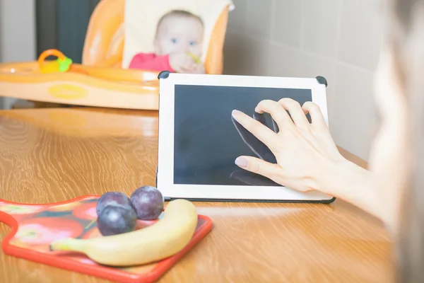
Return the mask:
<path id="1" fill-rule="evenodd" d="M 154 53 L 136 54 L 129 63 L 129 69 L 143 69 L 149 71 L 172 71 L 170 56 L 157 56 Z"/>

